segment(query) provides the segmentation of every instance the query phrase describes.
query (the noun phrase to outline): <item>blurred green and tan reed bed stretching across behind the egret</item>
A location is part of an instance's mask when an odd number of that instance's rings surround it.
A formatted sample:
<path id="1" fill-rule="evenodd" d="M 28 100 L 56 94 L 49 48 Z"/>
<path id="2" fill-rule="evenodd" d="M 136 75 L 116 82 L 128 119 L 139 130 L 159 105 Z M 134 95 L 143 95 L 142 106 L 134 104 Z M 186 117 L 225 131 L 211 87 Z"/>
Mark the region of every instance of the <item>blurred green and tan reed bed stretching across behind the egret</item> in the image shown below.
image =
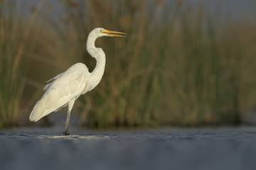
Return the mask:
<path id="1" fill-rule="evenodd" d="M 238 125 L 255 113 L 254 17 L 233 20 L 203 1 L 61 0 L 58 17 L 55 8 L 0 1 L 0 128 L 28 125 L 46 80 L 76 62 L 94 69 L 86 40 L 96 27 L 127 38 L 97 40 L 107 64 L 75 103 L 80 125 Z"/>

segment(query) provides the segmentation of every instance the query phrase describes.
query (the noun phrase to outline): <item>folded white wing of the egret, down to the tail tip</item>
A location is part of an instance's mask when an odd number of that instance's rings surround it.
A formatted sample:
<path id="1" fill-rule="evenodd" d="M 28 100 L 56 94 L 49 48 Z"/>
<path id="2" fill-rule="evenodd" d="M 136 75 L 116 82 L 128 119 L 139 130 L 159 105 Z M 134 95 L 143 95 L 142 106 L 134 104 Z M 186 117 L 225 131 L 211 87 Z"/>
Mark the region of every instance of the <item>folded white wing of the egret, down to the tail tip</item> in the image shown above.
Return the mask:
<path id="1" fill-rule="evenodd" d="M 76 69 L 70 67 L 48 86 L 46 93 L 34 106 L 29 117 L 30 120 L 37 121 L 66 106 L 71 99 L 77 99 L 87 86 L 89 74 L 87 67 L 77 67 Z"/>

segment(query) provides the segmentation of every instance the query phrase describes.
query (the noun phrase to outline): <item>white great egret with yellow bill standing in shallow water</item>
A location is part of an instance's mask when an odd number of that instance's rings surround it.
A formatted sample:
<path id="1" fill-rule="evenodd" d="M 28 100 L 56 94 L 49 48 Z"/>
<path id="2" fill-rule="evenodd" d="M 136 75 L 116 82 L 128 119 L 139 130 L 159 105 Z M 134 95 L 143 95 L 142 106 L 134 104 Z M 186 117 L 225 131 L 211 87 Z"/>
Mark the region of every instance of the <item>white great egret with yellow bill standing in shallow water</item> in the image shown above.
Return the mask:
<path id="1" fill-rule="evenodd" d="M 46 93 L 43 94 L 41 100 L 33 107 L 29 120 L 36 122 L 53 111 L 56 112 L 60 108 L 68 106 L 68 115 L 63 134 L 69 135 L 70 112 L 75 100 L 80 95 L 94 89 L 100 83 L 105 69 L 105 53 L 102 48 L 95 47 L 95 40 L 102 36 L 125 37 L 125 35 L 126 33 L 105 30 L 104 28 L 95 28 L 92 30 L 88 35 L 86 45 L 87 52 L 97 61 L 95 69 L 89 72 L 85 64 L 76 63 L 65 72 L 46 81 L 52 82 L 43 88 L 43 90 L 46 90 Z"/>

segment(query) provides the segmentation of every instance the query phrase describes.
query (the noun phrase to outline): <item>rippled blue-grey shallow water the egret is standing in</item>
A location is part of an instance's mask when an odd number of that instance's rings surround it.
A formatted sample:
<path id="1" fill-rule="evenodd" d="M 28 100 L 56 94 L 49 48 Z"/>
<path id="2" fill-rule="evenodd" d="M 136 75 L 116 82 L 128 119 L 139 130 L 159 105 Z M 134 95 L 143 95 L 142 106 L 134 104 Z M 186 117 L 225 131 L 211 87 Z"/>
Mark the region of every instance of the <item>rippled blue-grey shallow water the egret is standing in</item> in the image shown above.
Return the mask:
<path id="1" fill-rule="evenodd" d="M 0 131 L 1 169 L 255 169 L 256 128 Z"/>

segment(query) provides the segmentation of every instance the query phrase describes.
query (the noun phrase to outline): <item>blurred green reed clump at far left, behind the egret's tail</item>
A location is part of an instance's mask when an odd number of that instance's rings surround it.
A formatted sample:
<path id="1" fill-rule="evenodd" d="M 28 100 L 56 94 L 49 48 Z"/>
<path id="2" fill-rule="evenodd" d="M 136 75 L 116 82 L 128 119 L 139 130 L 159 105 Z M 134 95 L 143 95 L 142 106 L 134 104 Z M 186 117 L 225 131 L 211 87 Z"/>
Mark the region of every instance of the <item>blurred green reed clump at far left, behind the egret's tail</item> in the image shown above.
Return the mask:
<path id="1" fill-rule="evenodd" d="M 25 26 L 20 8 L 18 1 L 0 1 L 0 128 L 18 125 L 22 118 L 18 113 L 26 85 L 25 56 L 33 46 L 31 26 L 38 11 Z"/>

